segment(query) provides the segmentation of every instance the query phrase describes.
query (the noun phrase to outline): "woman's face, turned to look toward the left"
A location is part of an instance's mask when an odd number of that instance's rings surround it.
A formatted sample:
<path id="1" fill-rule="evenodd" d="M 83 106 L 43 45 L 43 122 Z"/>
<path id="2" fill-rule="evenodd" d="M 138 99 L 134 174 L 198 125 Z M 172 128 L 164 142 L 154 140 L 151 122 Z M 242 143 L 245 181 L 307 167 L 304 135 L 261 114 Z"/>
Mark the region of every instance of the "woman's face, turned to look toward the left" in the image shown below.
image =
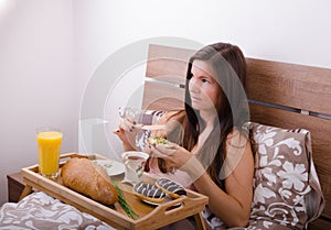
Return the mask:
<path id="1" fill-rule="evenodd" d="M 192 78 L 189 81 L 189 91 L 192 108 L 196 110 L 215 111 L 218 103 L 221 87 L 212 77 L 211 66 L 203 61 L 195 59 L 192 64 Z"/>

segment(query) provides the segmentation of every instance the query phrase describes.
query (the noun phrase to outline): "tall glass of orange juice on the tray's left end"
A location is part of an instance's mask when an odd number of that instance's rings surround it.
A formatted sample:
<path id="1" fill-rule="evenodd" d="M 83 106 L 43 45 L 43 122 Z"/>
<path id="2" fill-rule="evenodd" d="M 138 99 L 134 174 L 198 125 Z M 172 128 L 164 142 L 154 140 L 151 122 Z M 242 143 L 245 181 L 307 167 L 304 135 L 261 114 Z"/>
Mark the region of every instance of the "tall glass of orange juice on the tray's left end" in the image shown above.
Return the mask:
<path id="1" fill-rule="evenodd" d="M 63 133 L 54 128 L 36 130 L 39 173 L 55 179 L 58 172 L 60 152 Z"/>

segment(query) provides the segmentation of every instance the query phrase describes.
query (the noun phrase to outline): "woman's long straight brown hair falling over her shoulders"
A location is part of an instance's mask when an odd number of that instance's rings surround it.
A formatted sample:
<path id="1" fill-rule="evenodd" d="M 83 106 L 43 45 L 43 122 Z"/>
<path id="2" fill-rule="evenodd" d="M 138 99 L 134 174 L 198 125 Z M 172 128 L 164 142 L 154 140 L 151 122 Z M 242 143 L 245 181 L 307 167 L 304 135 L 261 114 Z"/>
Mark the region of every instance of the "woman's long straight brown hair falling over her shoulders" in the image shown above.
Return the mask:
<path id="1" fill-rule="evenodd" d="M 234 129 L 242 130 L 249 117 L 245 94 L 246 61 L 243 52 L 236 45 L 227 43 L 207 45 L 190 58 L 186 86 L 192 78 L 191 69 L 195 59 L 211 65 L 215 75 L 213 77 L 221 86 L 221 97 L 215 108 L 217 117 L 214 121 L 214 129 L 199 151 L 197 158 L 207 168 L 212 179 L 224 188 L 222 166 L 225 160 L 226 138 Z M 205 124 L 199 111 L 191 107 L 189 87 L 185 89 L 184 114 L 181 144 L 186 150 L 192 151 Z"/>

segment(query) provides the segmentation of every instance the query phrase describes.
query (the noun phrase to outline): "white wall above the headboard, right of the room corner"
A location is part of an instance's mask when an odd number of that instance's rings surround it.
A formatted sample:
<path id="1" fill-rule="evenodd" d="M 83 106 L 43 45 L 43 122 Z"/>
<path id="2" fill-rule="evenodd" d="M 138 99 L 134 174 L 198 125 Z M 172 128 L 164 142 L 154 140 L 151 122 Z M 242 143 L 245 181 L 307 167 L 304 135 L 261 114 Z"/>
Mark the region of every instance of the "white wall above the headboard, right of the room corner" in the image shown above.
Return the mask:
<path id="1" fill-rule="evenodd" d="M 84 69 L 129 43 L 162 35 L 233 42 L 247 56 L 331 66 L 329 0 L 74 0 L 74 7 Z"/>

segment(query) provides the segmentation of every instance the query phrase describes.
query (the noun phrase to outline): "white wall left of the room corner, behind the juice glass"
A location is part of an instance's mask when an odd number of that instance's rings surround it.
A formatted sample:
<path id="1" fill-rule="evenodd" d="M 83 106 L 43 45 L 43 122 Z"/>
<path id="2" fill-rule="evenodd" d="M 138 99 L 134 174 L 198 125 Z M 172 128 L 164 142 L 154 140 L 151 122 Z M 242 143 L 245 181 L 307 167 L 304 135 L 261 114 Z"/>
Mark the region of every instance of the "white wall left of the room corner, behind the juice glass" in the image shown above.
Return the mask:
<path id="1" fill-rule="evenodd" d="M 38 127 L 58 127 L 63 152 L 76 150 L 72 21 L 67 0 L 1 0 L 0 205 L 6 175 L 36 163 Z"/>

